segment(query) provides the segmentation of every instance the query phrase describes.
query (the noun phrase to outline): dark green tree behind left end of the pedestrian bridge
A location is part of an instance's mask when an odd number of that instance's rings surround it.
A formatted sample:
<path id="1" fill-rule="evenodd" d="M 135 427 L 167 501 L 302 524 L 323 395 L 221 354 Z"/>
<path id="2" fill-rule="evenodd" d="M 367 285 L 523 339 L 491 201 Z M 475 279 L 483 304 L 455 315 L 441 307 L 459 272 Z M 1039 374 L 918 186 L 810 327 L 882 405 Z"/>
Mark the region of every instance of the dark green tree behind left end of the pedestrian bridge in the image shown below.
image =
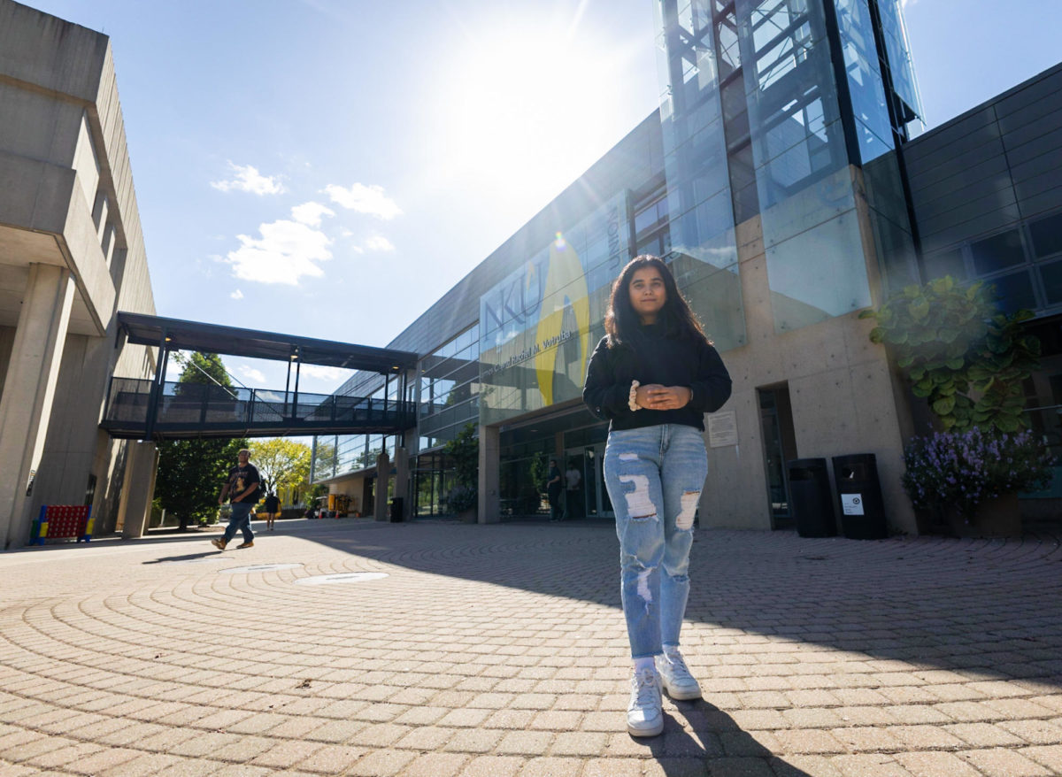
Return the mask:
<path id="1" fill-rule="evenodd" d="M 217 353 L 194 352 L 184 359 L 177 382 L 232 386 Z M 182 393 L 177 386 L 176 394 Z M 168 513 L 177 516 L 181 531 L 189 523 L 208 520 L 218 510 L 218 495 L 228 468 L 245 439 L 164 439 L 158 446 L 155 497 Z"/>

